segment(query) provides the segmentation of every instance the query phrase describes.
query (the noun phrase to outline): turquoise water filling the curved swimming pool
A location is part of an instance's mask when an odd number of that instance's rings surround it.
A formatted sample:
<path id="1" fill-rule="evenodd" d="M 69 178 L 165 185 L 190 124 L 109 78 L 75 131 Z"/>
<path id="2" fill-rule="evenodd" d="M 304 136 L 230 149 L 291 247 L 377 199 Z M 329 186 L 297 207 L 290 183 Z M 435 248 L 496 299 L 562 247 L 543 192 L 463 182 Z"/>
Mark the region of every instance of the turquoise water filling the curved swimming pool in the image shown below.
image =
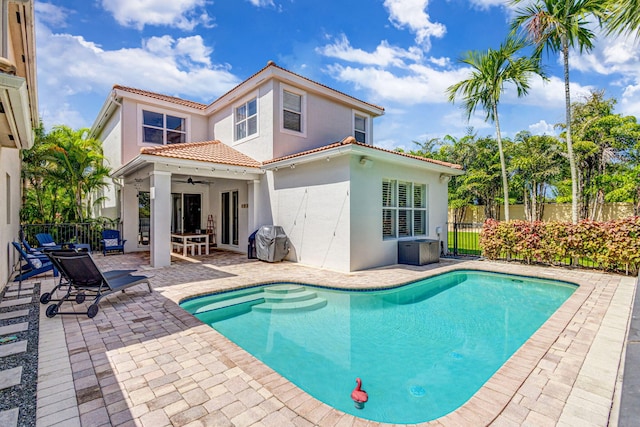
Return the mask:
<path id="1" fill-rule="evenodd" d="M 457 271 L 371 291 L 270 284 L 181 306 L 318 400 L 410 424 L 464 404 L 576 288 Z"/>

